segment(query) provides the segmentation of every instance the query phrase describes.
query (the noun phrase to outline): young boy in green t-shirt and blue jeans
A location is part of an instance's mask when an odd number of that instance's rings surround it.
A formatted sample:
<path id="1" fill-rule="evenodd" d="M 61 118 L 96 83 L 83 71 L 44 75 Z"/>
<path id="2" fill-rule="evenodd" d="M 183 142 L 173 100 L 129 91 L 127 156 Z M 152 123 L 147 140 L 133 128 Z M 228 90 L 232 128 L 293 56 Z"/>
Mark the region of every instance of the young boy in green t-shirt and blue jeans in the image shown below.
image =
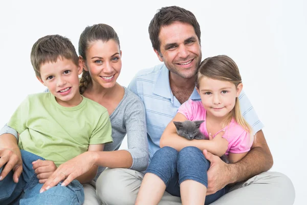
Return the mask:
<path id="1" fill-rule="evenodd" d="M 103 151 L 103 144 L 112 142 L 108 112 L 80 94 L 81 61 L 68 38 L 38 39 L 31 63 L 50 92 L 29 95 L 12 115 L 8 126 L 17 130 L 18 143 L 11 135 L 0 137 L 0 204 L 82 204 L 80 183 L 94 179 L 97 166 L 68 187 L 58 185 L 40 194 L 42 184 L 32 162 L 47 159 L 58 167 L 87 150 Z"/>

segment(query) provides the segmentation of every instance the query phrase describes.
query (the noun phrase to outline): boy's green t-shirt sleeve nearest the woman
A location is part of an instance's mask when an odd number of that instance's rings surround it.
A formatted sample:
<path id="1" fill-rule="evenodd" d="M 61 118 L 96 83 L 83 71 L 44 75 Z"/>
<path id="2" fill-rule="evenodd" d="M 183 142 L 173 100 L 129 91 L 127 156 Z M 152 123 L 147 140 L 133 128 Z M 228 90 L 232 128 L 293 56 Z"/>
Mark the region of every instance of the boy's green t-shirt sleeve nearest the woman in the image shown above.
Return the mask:
<path id="1" fill-rule="evenodd" d="M 107 142 L 113 142 L 113 138 L 111 121 L 106 111 L 100 116 L 97 126 L 92 132 L 90 145 L 104 144 Z"/>

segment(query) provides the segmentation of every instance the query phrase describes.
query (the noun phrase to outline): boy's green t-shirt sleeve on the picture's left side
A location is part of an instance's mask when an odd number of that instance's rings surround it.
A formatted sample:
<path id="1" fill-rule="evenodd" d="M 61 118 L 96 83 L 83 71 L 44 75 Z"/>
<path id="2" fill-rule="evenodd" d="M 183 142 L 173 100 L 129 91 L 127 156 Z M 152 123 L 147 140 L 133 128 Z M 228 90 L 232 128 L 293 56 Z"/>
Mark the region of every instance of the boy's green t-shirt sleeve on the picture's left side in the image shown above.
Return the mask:
<path id="1" fill-rule="evenodd" d="M 27 129 L 27 121 L 29 115 L 29 96 L 18 106 L 11 119 L 8 122 L 8 126 L 16 130 L 19 134 Z"/>

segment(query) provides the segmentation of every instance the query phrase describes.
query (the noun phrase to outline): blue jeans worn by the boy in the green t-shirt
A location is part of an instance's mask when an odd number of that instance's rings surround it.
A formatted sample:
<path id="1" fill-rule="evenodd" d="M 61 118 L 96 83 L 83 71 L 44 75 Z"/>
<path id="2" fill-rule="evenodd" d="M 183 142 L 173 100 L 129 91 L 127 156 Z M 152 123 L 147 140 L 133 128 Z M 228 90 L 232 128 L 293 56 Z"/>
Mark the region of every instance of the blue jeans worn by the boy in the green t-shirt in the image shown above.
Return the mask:
<path id="1" fill-rule="evenodd" d="M 67 187 L 61 187 L 61 182 L 49 190 L 39 193 L 42 185 L 32 168 L 32 162 L 43 159 L 35 154 L 21 151 L 23 172 L 18 183 L 13 181 L 13 171 L 0 181 L 0 204 L 82 204 L 84 201 L 83 186 L 73 180 Z M 0 168 L 0 173 L 3 168 Z"/>

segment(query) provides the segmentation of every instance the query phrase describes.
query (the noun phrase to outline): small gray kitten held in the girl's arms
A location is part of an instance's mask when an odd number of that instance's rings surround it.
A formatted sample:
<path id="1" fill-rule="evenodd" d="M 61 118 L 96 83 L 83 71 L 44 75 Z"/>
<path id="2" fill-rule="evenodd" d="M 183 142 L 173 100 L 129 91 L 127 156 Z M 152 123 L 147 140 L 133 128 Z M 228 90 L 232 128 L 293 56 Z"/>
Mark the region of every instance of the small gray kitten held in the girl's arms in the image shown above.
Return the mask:
<path id="1" fill-rule="evenodd" d="M 200 131 L 200 126 L 205 120 L 185 120 L 185 121 L 173 121 L 177 129 L 177 134 L 188 140 L 192 139 L 205 139 L 205 135 Z M 221 159 L 225 163 L 229 163 L 227 156 L 224 154 Z"/>

